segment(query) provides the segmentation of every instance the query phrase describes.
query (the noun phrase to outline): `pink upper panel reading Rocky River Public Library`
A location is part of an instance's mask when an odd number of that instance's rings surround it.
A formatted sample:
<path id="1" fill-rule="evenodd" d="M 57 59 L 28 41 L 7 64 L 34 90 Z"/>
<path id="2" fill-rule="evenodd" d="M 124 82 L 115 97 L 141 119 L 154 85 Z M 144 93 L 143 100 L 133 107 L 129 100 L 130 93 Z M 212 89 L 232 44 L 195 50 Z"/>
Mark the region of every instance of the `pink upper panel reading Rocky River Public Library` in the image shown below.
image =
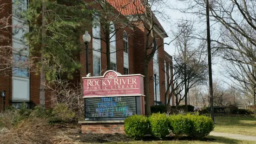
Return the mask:
<path id="1" fill-rule="evenodd" d="M 84 98 L 112 96 L 144 96 L 144 76 L 121 75 L 107 71 L 102 77 L 85 77 Z"/>

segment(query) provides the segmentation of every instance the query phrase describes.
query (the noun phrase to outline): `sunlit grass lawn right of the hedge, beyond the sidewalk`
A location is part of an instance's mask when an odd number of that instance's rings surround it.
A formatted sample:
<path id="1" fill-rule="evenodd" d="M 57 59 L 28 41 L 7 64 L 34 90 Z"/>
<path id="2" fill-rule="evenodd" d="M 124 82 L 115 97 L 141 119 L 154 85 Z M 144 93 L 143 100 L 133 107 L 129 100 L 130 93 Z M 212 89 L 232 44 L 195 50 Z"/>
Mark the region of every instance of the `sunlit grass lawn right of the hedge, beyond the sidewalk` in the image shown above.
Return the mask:
<path id="1" fill-rule="evenodd" d="M 256 136 L 256 118 L 215 117 L 215 132 Z"/>

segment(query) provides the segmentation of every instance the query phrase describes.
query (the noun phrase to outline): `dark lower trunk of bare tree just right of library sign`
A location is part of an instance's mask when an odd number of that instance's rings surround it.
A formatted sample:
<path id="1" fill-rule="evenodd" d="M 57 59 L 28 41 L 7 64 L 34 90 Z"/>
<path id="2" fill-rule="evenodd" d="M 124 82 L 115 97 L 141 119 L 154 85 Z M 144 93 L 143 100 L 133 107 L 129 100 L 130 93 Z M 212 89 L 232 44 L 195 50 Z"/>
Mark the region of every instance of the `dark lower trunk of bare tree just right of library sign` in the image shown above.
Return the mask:
<path id="1" fill-rule="evenodd" d="M 144 67 L 144 85 L 145 85 L 145 101 L 146 101 L 146 105 L 145 105 L 145 113 L 146 115 L 150 115 L 151 114 L 151 109 L 150 109 L 150 92 L 149 92 L 149 75 L 148 75 L 148 63 L 147 60 L 144 60 L 145 62 L 145 67 Z"/>

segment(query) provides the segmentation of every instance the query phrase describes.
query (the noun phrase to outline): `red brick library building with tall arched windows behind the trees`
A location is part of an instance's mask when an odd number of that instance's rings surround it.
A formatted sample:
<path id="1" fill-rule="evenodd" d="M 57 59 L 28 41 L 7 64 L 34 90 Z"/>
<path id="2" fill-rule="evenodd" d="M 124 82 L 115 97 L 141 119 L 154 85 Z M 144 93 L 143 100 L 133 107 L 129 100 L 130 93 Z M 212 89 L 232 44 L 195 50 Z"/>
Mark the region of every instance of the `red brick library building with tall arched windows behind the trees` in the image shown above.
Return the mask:
<path id="1" fill-rule="evenodd" d="M 116 8 L 117 12 L 120 11 L 119 7 L 125 6 L 129 0 L 108 0 L 108 2 Z M 137 4 L 140 5 L 140 1 L 136 0 Z M 13 13 L 9 19 L 9 24 L 12 25 L 3 31 L 1 29 L 0 36 L 5 36 L 9 40 L 1 41 L 0 46 L 12 46 L 14 49 L 23 47 L 22 36 L 28 27 L 22 29 L 17 28 L 22 25 L 25 20 L 20 18 L 15 4 L 12 4 L 11 0 L 1 0 L 0 5 L 6 3 L 3 7 L 3 11 L 0 13 L 0 19 L 8 17 L 9 13 Z M 19 10 L 26 11 L 27 0 L 23 0 Z M 121 11 L 124 18 L 131 17 L 135 13 L 135 7 L 131 4 L 126 5 L 126 8 Z M 97 18 L 97 17 L 96 17 Z M 134 21 L 135 22 L 135 21 Z M 139 23 L 136 21 L 136 23 Z M 157 44 L 160 46 L 158 51 L 155 53 L 154 58 L 149 63 L 149 79 L 150 83 L 150 94 L 151 94 L 151 105 L 154 105 L 155 99 L 155 83 L 153 71 L 156 69 L 157 74 L 157 101 L 165 103 L 164 94 L 167 87 L 167 77 L 172 75 L 172 57 L 164 51 L 164 38 L 168 37 L 165 33 L 164 28 L 157 21 L 158 28 L 155 29 L 155 33 L 158 34 Z M 112 29 L 115 29 L 116 26 Z M 100 37 L 102 28 L 100 25 L 95 25 L 88 32 L 94 37 Z M 15 33 L 14 33 L 15 32 Z M 142 51 L 144 50 L 146 29 L 142 24 L 135 26 L 125 27 L 117 31 L 112 37 L 111 42 L 111 69 L 121 74 L 142 74 L 144 75 L 144 62 L 142 59 Z M 81 36 L 82 39 L 82 36 Z M 162 45 L 162 46 L 161 46 Z M 101 49 L 102 52 L 106 51 L 106 45 L 99 39 L 91 40 L 89 44 L 89 73 L 93 76 L 98 76 L 106 71 L 106 55 L 104 53 L 94 51 L 92 49 Z M 125 49 L 125 50 L 120 50 Z M 117 51 L 118 50 L 118 51 Z M 13 58 L 15 55 L 21 55 L 21 58 L 28 59 L 28 51 L 22 51 L 19 53 L 11 52 Z M 74 81 L 80 81 L 82 77 L 86 76 L 86 56 L 85 46 L 83 51 L 79 55 L 79 60 L 82 65 L 76 74 L 74 74 Z M 0 63 L 3 61 L 0 61 Z M 1 66 L 1 65 L 0 65 Z M 0 69 L 1 70 L 1 69 Z M 19 68 L 8 68 L 4 72 L 5 74 L 0 75 L 0 92 L 5 92 L 5 98 L 0 98 L 0 111 L 3 110 L 4 106 L 12 105 L 15 101 L 32 101 L 34 104 L 39 105 L 39 85 L 40 77 L 35 72 L 29 71 L 29 69 Z M 170 93 L 170 92 L 169 92 Z M 51 92 L 46 90 L 46 107 L 51 106 L 50 98 Z M 160 103 L 159 103 L 160 104 Z M 174 105 L 174 98 L 171 98 L 171 105 Z"/>

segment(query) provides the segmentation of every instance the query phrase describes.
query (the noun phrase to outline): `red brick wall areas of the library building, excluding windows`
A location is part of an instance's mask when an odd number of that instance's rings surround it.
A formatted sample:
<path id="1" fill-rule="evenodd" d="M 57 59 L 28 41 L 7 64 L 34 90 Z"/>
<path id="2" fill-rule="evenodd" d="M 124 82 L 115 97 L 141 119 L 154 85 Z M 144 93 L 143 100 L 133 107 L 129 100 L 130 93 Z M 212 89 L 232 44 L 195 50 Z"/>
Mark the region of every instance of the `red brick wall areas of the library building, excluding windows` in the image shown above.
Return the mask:
<path id="1" fill-rule="evenodd" d="M 91 0 L 86 0 L 91 1 Z M 9 5 L 6 5 L 5 11 L 0 13 L 0 18 L 3 16 L 7 16 L 7 13 L 12 12 L 12 5 L 10 0 L 1 0 L 0 3 L 9 2 Z M 10 23 L 12 21 L 10 20 Z M 129 74 L 142 74 L 144 75 L 144 45 L 145 45 L 145 34 L 146 31 L 143 27 L 143 24 L 139 22 L 135 22 L 139 26 L 125 27 L 124 29 L 118 30 L 116 34 L 116 48 L 117 50 L 123 49 L 123 33 L 124 30 L 128 34 L 128 41 L 129 41 Z M 116 26 L 118 27 L 118 26 Z M 92 29 L 88 28 L 90 34 L 92 34 Z M 2 34 L 2 32 L 0 32 Z M 12 38 L 12 29 L 8 29 L 7 37 L 10 39 Z M 85 44 L 81 39 L 81 47 L 83 48 L 82 52 L 79 54 L 79 60 L 81 63 L 81 69 L 74 73 L 72 82 L 79 83 L 82 77 L 86 76 L 86 53 L 85 53 Z M 11 41 L 10 41 L 11 42 Z M 163 39 L 158 39 L 158 45 L 163 43 Z M 8 45 L 8 43 L 1 44 Z M 106 47 L 105 43 L 101 42 L 102 51 L 105 52 Z M 164 46 L 161 46 L 158 50 L 159 58 L 164 56 Z M 121 74 L 124 74 L 124 58 L 123 58 L 123 51 L 117 52 L 117 71 Z M 92 42 L 89 44 L 89 73 L 93 73 L 93 63 L 92 63 Z M 106 55 L 102 53 L 101 55 L 101 68 L 104 70 L 102 74 L 106 70 Z M 164 103 L 164 93 L 165 93 L 165 85 L 163 85 L 164 78 L 164 63 L 159 63 L 159 76 L 160 76 L 160 99 Z M 168 69 L 168 68 L 167 68 Z M 0 75 L 0 91 L 6 91 L 6 105 L 9 105 L 8 102 L 12 99 L 12 72 L 7 72 L 8 76 Z M 153 62 L 149 63 L 149 78 L 153 76 Z M 40 85 L 40 77 L 39 75 L 35 75 L 34 72 L 30 72 L 30 99 L 36 104 L 39 105 L 39 85 Z M 154 85 L 153 80 L 150 80 L 150 94 L 151 94 L 151 105 L 154 105 Z M 46 107 L 50 107 L 50 94 L 51 92 L 46 89 Z M 0 105 L 1 105 L 1 98 L 0 98 Z M 1 108 L 1 106 L 0 106 Z"/>

